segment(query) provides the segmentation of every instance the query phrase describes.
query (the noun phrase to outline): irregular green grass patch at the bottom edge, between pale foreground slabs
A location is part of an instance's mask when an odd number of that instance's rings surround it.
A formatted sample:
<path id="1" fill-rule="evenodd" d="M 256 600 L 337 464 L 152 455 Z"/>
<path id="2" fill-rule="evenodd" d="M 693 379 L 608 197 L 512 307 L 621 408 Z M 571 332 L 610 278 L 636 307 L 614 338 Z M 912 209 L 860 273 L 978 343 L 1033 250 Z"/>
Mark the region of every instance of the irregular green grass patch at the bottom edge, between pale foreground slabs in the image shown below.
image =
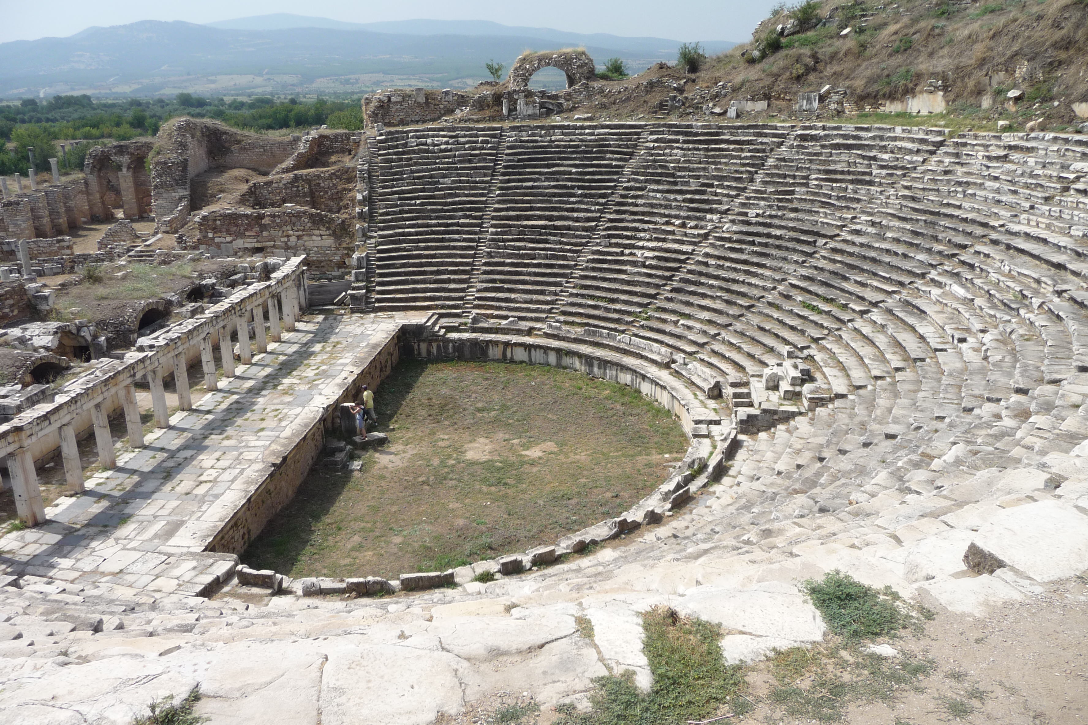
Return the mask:
<path id="1" fill-rule="evenodd" d="M 560 705 L 559 725 L 683 725 L 724 710 L 735 712 L 743 667 L 725 663 L 718 625 L 658 607 L 642 615 L 642 629 L 654 674 L 651 690 L 640 690 L 630 670 L 598 677 L 592 710 L 579 713 Z"/>

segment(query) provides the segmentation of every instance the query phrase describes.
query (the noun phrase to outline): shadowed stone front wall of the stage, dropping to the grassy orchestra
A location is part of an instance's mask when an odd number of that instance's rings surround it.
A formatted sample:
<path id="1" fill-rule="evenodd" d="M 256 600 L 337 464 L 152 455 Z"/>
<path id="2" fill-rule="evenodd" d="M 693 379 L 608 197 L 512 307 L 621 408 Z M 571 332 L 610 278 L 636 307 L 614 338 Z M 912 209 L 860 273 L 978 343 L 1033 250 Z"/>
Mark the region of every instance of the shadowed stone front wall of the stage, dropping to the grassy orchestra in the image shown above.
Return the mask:
<path id="1" fill-rule="evenodd" d="M 336 397 L 323 401 L 320 408 L 308 408 L 307 415 L 295 423 L 294 445 L 270 448 L 263 452 L 269 476 L 238 507 L 234 515 L 215 534 L 207 551 L 240 554 L 261 533 L 264 525 L 298 491 L 299 485 L 313 467 L 324 445 L 324 433 L 331 428 L 341 403 L 357 399 L 363 385 L 376 389 L 399 361 L 399 333 L 390 337 L 380 349 L 364 349 L 358 357 L 359 372 Z M 281 440 L 292 438 L 283 436 Z"/>

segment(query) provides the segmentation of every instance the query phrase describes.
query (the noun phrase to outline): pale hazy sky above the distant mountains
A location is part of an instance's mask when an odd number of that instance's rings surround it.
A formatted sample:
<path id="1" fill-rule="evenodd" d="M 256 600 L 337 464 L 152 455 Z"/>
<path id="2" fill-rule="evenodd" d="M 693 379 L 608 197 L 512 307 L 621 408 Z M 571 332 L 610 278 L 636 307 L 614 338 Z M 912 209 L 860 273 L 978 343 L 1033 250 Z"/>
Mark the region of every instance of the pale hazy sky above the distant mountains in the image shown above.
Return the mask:
<path id="1" fill-rule="evenodd" d="M 436 18 L 490 20 L 505 25 L 554 27 L 573 33 L 613 33 L 678 40 L 744 41 L 775 0 L 0 0 L 0 42 L 64 37 L 91 25 L 141 20 L 214 21 L 295 13 L 354 23 Z"/>

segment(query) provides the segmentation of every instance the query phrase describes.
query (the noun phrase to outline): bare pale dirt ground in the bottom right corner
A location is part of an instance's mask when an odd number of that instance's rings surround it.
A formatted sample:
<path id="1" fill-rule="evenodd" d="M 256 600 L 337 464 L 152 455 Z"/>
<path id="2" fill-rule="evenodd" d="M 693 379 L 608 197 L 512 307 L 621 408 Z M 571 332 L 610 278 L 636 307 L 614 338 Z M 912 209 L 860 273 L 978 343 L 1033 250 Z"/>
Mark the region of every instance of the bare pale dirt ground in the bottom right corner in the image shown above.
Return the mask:
<path id="1" fill-rule="evenodd" d="M 1077 577 L 1044 595 L 996 607 L 986 617 L 950 612 L 927 622 L 920 636 L 889 640 L 930 673 L 889 702 L 852 704 L 850 725 L 1073 725 L 1088 723 L 1088 582 Z M 904 660 L 905 661 L 905 660 Z M 842 674 L 850 680 L 848 670 Z M 759 705 L 744 722 L 819 722 L 783 714 L 774 702 L 769 662 L 755 665 L 750 696 Z M 800 683 L 808 687 L 808 683 Z M 731 721 L 732 722 L 732 721 Z"/>

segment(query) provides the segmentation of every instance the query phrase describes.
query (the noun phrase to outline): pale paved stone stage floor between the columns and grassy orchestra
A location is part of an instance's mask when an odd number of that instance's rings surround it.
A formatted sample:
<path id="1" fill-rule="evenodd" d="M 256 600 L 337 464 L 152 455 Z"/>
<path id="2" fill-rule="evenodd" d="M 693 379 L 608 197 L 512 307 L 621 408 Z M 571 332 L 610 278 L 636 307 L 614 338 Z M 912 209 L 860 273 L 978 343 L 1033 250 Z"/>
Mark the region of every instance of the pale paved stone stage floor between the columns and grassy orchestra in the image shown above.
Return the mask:
<path id="1" fill-rule="evenodd" d="M 282 452 L 343 391 L 344 373 L 411 315 L 308 316 L 238 365 L 147 446 L 119 454 L 87 490 L 58 499 L 49 522 L 0 538 L 0 573 L 87 586 L 196 593 L 224 562 L 199 555 Z M 274 455 L 274 460 L 270 460 Z"/>

